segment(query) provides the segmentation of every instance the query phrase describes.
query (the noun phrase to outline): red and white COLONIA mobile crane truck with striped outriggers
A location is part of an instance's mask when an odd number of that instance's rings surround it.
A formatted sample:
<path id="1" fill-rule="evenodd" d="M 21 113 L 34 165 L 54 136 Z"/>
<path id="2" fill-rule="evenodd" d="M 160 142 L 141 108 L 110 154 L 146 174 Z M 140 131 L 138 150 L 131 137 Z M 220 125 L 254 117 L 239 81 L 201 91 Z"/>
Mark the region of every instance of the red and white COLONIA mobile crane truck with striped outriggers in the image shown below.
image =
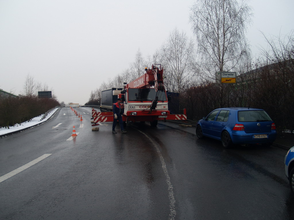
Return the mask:
<path id="1" fill-rule="evenodd" d="M 159 67 L 158 67 L 159 66 Z M 157 126 L 158 120 L 187 120 L 184 114 L 170 114 L 168 99 L 163 85 L 163 68 L 161 64 L 153 64 L 146 73 L 126 84 L 118 98 L 123 100 L 123 121 L 149 121 Z M 97 112 L 92 109 L 93 125 L 98 122 L 113 121 L 113 112 Z"/>

